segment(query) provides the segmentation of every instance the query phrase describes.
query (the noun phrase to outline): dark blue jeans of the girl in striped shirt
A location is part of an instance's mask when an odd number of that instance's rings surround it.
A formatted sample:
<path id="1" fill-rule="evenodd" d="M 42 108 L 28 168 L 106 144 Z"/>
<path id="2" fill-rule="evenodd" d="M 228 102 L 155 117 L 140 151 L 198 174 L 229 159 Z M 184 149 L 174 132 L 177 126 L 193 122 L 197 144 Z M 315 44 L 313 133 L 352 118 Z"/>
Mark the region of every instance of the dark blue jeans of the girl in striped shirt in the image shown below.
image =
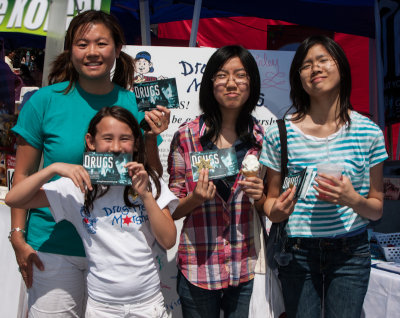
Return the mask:
<path id="1" fill-rule="evenodd" d="M 287 317 L 358 318 L 368 289 L 371 256 L 367 232 L 339 239 L 289 238 L 293 253 L 279 267 Z"/>

